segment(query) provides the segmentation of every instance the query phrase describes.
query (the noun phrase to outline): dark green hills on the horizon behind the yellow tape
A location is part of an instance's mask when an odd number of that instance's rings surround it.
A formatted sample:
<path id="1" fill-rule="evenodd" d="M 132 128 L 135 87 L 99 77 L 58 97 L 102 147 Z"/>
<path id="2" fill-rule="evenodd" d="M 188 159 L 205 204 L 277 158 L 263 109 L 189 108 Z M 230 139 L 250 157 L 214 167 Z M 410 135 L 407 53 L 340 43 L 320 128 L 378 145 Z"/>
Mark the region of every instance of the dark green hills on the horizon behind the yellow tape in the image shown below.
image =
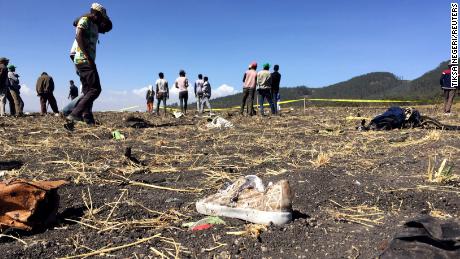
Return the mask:
<path id="1" fill-rule="evenodd" d="M 441 91 L 439 77 L 447 68 L 448 61 L 439 64 L 414 80 L 401 80 L 389 72 L 373 72 L 353 77 L 350 80 L 322 88 L 306 86 L 282 87 L 283 100 L 299 99 L 309 95 L 312 98 L 343 99 L 401 99 L 401 100 L 439 100 Z M 242 94 L 235 94 L 212 100 L 213 107 L 232 107 L 241 103 Z"/>

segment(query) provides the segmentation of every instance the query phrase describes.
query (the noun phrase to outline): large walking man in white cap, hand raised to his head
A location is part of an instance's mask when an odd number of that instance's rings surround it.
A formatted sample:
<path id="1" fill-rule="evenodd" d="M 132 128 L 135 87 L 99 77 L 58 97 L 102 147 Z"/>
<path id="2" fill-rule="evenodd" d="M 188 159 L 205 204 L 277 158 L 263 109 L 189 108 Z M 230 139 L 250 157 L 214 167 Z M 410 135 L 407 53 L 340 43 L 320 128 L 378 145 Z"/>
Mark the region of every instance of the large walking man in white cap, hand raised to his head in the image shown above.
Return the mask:
<path id="1" fill-rule="evenodd" d="M 83 96 L 66 118 L 72 123 L 85 121 L 88 125 L 94 125 L 93 103 L 102 90 L 95 63 L 96 44 L 99 33 L 106 33 L 112 29 L 112 22 L 107 16 L 106 9 L 98 3 L 93 3 L 90 13 L 76 20 L 74 26 L 76 37 L 70 56 L 83 85 Z"/>

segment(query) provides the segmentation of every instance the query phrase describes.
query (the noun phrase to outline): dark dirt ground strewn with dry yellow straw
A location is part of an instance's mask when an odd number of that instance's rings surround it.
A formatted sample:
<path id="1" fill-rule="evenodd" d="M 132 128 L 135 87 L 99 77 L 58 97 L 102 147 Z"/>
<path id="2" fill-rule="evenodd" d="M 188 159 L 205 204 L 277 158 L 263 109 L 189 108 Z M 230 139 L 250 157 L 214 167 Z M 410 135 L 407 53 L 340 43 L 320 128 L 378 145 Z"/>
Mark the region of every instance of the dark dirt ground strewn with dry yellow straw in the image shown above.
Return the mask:
<path id="1" fill-rule="evenodd" d="M 439 108 L 418 109 L 460 124 L 458 115 L 445 117 Z M 225 112 L 235 127 L 224 130 L 208 130 L 206 118 L 191 114 L 97 113 L 101 125 L 77 125 L 74 132 L 58 117 L 0 118 L 0 161 L 24 162 L 0 180 L 70 182 L 59 189 L 59 222 L 36 233 L 2 233 L 1 257 L 375 258 L 405 221 L 420 214 L 455 218 L 460 207 L 457 180 L 427 180 L 429 168 L 437 170 L 443 159 L 459 174 L 460 132 L 355 130 L 358 114 L 372 118 L 384 110 L 311 107 L 284 109 L 281 117 Z M 128 116 L 152 127 L 126 127 Z M 126 140 L 113 140 L 114 130 Z M 139 163 L 124 157 L 127 147 Z M 292 223 L 256 235 L 231 234 L 251 225 L 228 218 L 203 231 L 182 227 L 204 217 L 195 201 L 248 174 L 267 183 L 289 180 Z"/>

